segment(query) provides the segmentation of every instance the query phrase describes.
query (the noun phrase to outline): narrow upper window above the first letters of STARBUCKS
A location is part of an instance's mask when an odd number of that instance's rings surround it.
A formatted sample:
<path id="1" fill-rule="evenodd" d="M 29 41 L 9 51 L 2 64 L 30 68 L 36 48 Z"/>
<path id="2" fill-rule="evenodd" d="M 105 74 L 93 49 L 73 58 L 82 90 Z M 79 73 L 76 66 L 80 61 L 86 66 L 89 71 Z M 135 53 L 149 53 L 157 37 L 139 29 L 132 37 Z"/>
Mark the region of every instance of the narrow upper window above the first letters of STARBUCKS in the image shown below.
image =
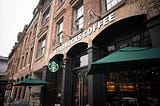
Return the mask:
<path id="1" fill-rule="evenodd" d="M 57 23 L 57 42 L 62 43 L 63 40 L 63 20 Z"/>

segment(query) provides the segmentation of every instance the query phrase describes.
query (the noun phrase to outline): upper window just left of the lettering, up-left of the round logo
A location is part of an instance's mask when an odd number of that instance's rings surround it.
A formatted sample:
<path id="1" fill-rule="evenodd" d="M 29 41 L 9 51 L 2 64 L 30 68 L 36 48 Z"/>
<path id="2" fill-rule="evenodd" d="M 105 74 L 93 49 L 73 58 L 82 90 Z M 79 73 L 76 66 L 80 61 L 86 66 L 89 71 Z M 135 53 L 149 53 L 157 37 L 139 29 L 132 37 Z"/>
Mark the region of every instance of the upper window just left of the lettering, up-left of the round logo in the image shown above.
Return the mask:
<path id="1" fill-rule="evenodd" d="M 43 36 L 43 37 L 38 41 L 37 57 L 39 57 L 39 56 L 41 56 L 42 54 L 44 54 L 45 43 L 46 43 L 46 36 Z"/>

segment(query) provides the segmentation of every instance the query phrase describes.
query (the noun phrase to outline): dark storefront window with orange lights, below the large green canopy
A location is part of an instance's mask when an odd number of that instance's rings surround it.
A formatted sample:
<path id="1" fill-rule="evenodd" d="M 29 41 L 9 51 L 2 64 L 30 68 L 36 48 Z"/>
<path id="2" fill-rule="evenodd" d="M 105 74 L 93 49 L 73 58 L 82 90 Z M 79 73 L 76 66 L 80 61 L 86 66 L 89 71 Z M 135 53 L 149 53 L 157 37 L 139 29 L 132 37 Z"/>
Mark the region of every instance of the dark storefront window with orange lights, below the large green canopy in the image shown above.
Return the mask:
<path id="1" fill-rule="evenodd" d="M 124 106 L 151 106 L 160 103 L 159 68 L 142 71 L 110 72 L 105 77 L 106 103 Z"/>

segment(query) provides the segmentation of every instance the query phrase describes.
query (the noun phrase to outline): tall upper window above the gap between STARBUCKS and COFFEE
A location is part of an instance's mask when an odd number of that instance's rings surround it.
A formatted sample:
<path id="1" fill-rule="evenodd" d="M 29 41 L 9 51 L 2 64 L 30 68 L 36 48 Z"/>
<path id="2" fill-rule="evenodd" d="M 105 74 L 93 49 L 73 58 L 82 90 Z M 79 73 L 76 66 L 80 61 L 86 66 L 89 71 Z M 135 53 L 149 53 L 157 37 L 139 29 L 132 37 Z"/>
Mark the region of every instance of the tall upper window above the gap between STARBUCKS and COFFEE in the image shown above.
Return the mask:
<path id="1" fill-rule="evenodd" d="M 84 6 L 79 5 L 75 7 L 75 20 L 73 23 L 74 30 L 80 30 L 83 28 L 83 23 L 84 23 Z"/>

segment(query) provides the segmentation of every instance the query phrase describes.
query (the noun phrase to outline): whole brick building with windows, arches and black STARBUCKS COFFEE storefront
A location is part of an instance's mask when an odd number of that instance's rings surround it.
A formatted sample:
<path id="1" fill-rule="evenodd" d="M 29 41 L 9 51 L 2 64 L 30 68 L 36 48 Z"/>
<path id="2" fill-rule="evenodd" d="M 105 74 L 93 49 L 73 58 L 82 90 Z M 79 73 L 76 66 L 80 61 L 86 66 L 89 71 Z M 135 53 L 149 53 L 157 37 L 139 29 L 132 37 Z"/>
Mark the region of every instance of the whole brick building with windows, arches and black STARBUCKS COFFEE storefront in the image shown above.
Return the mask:
<path id="1" fill-rule="evenodd" d="M 32 99 L 37 94 L 42 105 L 129 105 L 132 100 L 136 106 L 159 101 L 155 74 L 145 80 L 155 85 L 141 85 L 144 92 L 139 98 L 125 71 L 119 76 L 116 72 L 87 76 L 93 61 L 120 48 L 160 47 L 159 4 L 159 0 L 40 0 L 9 55 L 8 78 L 18 82 L 32 75 L 49 82 L 32 89 Z M 160 73 L 146 70 L 142 78 L 152 72 Z M 118 91 L 117 79 L 126 88 Z M 27 99 L 27 91 L 14 87 L 11 97 Z M 116 99 L 119 94 L 124 103 Z"/>

